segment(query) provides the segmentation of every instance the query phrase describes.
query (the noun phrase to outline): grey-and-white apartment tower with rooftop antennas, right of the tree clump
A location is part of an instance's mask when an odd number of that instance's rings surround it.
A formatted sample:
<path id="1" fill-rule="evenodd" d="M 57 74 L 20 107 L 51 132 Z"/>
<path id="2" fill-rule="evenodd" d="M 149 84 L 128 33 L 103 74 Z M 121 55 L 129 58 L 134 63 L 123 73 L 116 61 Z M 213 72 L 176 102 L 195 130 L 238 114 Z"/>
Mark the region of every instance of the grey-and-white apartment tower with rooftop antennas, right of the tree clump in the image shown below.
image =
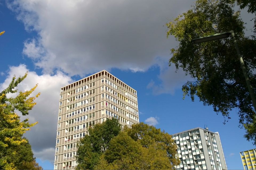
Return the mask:
<path id="1" fill-rule="evenodd" d="M 176 169 L 227 169 L 218 132 L 194 128 L 172 137 L 181 161 Z"/>

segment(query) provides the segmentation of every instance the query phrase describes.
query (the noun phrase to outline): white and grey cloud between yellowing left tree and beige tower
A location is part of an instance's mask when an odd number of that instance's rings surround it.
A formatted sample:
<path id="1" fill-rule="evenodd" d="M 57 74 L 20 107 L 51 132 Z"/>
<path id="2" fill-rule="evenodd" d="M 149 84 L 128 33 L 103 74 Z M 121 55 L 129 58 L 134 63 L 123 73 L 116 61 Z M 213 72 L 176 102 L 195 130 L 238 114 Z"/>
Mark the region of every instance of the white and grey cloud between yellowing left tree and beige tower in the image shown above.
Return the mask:
<path id="1" fill-rule="evenodd" d="M 7 78 L 0 84 L 0 91 L 9 85 L 13 75 L 22 76 L 26 71 L 29 71 L 26 65 L 10 67 Z M 38 121 L 38 124 L 25 133 L 25 137 L 29 139 L 34 154 L 39 159 L 47 159 L 50 162 L 54 159 L 58 119 L 57 103 L 59 101 L 60 88 L 72 81 L 70 77 L 60 71 L 57 71 L 55 75 L 38 75 L 33 71 L 29 71 L 27 78 L 18 85 L 19 91 L 25 91 L 30 90 L 38 83 L 38 87 L 31 95 L 34 96 L 41 92 L 41 95 L 35 100 L 37 104 L 29 115 L 20 115 L 22 120 L 29 118 L 31 123 Z"/>

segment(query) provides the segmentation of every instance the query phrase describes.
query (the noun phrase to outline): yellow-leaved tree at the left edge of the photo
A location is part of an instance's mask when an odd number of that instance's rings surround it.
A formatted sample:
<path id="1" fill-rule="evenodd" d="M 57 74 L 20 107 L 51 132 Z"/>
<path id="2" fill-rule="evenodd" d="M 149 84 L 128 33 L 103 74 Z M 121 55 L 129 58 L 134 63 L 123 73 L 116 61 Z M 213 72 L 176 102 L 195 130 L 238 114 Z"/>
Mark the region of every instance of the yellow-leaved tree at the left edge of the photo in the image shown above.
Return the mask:
<path id="1" fill-rule="evenodd" d="M 20 91 L 16 97 L 7 97 L 7 94 L 13 94 L 18 91 L 18 89 L 14 89 L 26 76 L 27 73 L 17 79 L 14 76 L 9 86 L 0 92 L 0 169 L 18 169 L 17 166 L 20 164 L 18 164 L 17 160 L 24 160 L 24 163 L 30 163 L 35 160 L 28 160 L 22 156 L 23 151 L 28 150 L 29 152 L 31 150 L 27 139 L 22 136 L 37 122 L 30 124 L 27 118 L 21 121 L 16 112 L 21 112 L 23 116 L 29 114 L 29 111 L 36 104 L 34 102 L 35 98 L 40 95 L 38 93 L 35 97 L 29 97 L 37 85 L 31 90 Z M 30 158 L 33 158 L 33 153 L 31 157 L 31 152 Z"/>

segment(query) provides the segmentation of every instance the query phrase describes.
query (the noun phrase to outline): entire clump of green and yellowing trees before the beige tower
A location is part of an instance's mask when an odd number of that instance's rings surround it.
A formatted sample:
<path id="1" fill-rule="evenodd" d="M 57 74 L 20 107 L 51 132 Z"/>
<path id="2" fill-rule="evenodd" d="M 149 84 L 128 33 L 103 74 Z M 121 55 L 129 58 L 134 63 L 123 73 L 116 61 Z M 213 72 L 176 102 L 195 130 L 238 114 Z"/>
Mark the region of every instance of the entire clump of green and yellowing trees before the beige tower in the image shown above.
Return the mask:
<path id="1" fill-rule="evenodd" d="M 116 130 L 104 130 L 107 122 L 114 122 L 107 127 Z M 103 130 L 105 133 L 101 133 Z M 105 139 L 103 135 L 111 136 L 110 140 L 99 142 L 101 144 L 94 148 L 95 141 Z M 179 164 L 179 159 L 175 158 L 176 149 L 171 135 L 154 126 L 141 122 L 132 125 L 132 129 L 121 131 L 118 120 L 113 118 L 96 124 L 90 128 L 90 136 L 81 139 L 77 169 L 174 169 Z"/>

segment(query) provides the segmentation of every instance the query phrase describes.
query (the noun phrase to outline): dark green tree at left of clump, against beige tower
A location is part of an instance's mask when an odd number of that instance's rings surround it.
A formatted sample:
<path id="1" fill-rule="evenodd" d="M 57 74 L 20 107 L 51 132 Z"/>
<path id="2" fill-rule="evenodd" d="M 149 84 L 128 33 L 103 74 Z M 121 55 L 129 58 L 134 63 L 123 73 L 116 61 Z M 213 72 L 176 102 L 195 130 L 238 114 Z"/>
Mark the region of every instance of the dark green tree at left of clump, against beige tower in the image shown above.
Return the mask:
<path id="1" fill-rule="evenodd" d="M 109 141 L 119 134 L 121 127 L 118 120 L 112 118 L 90 127 L 88 131 L 90 135 L 86 135 L 78 143 L 77 169 L 93 169 L 109 147 Z"/>

